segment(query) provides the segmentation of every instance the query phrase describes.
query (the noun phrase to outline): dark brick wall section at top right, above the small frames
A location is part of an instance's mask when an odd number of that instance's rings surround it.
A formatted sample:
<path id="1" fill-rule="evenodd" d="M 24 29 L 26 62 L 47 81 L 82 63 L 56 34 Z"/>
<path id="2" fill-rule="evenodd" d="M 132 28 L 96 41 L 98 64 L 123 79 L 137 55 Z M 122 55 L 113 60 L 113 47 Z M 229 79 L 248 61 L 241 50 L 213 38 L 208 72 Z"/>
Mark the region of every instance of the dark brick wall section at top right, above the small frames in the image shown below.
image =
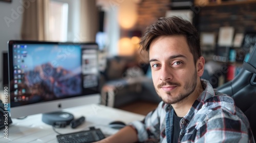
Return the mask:
<path id="1" fill-rule="evenodd" d="M 199 13 L 200 32 L 219 32 L 220 27 L 234 27 L 236 33 L 256 31 L 256 3 L 206 6 Z"/>

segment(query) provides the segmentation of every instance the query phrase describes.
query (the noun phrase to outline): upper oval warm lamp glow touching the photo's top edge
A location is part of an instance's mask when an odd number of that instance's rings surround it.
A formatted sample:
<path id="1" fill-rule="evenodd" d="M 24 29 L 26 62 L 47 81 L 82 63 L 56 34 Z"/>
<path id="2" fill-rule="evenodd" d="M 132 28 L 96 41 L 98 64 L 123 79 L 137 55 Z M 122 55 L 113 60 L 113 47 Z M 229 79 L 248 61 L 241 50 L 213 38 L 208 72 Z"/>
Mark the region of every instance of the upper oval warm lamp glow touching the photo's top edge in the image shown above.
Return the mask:
<path id="1" fill-rule="evenodd" d="M 123 1 L 119 8 L 118 22 L 121 28 L 130 29 L 137 22 L 137 7 L 133 1 Z"/>

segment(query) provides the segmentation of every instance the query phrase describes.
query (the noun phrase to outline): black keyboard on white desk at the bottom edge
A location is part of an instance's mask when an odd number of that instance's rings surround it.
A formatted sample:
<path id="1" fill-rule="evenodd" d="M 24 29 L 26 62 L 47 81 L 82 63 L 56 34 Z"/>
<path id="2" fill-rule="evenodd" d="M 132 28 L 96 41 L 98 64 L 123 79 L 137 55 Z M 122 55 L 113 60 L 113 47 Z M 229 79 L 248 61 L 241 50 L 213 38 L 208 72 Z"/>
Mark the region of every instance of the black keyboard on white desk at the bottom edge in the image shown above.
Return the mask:
<path id="1" fill-rule="evenodd" d="M 77 143 L 90 143 L 99 141 L 105 138 L 104 134 L 100 129 L 91 129 L 87 131 L 80 131 L 68 134 L 61 134 L 57 135 L 57 140 L 59 143 L 70 143 L 70 142 L 77 142 Z"/>

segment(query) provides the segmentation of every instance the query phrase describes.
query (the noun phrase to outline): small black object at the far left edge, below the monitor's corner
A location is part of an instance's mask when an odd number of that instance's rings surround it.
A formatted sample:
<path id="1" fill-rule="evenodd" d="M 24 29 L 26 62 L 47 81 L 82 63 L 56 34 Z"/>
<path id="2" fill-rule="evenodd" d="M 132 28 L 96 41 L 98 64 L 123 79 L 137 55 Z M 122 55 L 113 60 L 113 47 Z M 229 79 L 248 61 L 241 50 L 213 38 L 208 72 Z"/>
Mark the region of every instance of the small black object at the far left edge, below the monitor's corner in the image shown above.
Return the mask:
<path id="1" fill-rule="evenodd" d="M 8 130 L 8 126 L 12 123 L 7 107 L 8 104 L 0 100 L 0 129 L 5 128 L 5 130 Z"/>

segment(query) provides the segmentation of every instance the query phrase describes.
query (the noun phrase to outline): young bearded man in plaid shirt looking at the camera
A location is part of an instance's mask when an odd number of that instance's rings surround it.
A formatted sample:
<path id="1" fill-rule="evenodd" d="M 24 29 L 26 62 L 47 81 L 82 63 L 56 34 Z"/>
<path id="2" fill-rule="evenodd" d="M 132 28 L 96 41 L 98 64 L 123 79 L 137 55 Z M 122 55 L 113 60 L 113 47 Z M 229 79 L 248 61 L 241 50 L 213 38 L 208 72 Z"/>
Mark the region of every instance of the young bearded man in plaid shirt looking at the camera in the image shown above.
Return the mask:
<path id="1" fill-rule="evenodd" d="M 162 17 L 146 29 L 140 46 L 149 54 L 162 99 L 144 121 L 100 142 L 254 142 L 249 122 L 232 98 L 200 77 L 200 38 L 190 22 Z"/>

